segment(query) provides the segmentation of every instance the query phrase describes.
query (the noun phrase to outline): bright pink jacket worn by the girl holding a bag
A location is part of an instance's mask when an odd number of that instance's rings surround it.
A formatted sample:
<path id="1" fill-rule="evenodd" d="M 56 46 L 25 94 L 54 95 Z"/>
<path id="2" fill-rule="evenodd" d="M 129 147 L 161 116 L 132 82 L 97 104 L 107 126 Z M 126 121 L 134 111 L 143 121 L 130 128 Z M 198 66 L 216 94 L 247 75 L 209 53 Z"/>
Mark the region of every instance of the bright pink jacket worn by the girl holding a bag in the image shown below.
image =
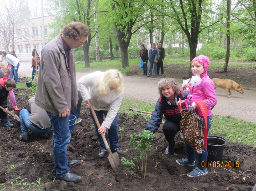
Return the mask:
<path id="1" fill-rule="evenodd" d="M 194 102 L 204 100 L 207 106 L 207 116 L 212 115 L 210 108 L 217 104 L 217 96 L 214 89 L 212 79 L 207 75 L 207 72 L 201 76 L 201 83 L 192 87 L 192 100 Z M 199 109 L 195 109 L 196 114 L 203 116 Z"/>

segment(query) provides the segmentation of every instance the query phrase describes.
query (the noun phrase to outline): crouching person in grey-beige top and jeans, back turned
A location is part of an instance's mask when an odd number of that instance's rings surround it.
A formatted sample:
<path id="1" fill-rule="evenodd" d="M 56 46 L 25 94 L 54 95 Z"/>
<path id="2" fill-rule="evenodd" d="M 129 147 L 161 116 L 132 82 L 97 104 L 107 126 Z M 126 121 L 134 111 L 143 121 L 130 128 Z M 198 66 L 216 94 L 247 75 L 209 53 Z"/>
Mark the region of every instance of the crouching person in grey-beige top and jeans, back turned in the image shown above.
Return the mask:
<path id="1" fill-rule="evenodd" d="M 28 130 L 48 139 L 52 129 L 50 118 L 46 111 L 35 104 L 35 97 L 28 100 L 27 109 L 20 111 L 21 135 L 20 140 L 29 140 Z"/>

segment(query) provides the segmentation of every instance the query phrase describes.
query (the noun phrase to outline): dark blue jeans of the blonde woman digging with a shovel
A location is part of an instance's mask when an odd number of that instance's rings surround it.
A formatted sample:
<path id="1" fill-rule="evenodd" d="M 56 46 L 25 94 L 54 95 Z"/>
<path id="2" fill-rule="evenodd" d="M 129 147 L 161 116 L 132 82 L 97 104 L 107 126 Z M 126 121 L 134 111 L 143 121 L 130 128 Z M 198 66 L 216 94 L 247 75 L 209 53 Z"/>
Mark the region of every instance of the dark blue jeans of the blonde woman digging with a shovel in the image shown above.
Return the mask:
<path id="1" fill-rule="evenodd" d="M 91 113 L 91 109 L 89 108 L 89 112 L 90 112 L 90 115 L 91 115 L 91 118 L 92 118 L 92 121 L 94 122 L 94 127 L 95 127 L 95 131 L 97 133 L 97 137 L 98 137 L 98 140 L 99 140 L 99 144 L 101 145 L 101 149 L 105 150 L 106 151 L 106 146 L 103 142 L 103 139 L 101 137 L 101 135 L 99 135 L 99 132 L 98 132 L 98 127 L 97 127 L 97 124 L 94 120 L 94 116 L 92 115 Z M 95 110 L 95 113 L 96 113 L 96 116 L 99 120 L 99 124 L 101 125 L 104 121 L 103 117 L 108 114 L 108 111 L 103 111 L 103 110 L 100 110 L 100 111 L 97 111 Z M 105 134 L 105 138 L 107 140 L 107 142 L 110 143 L 110 148 L 111 149 L 115 149 L 118 146 L 118 129 L 117 129 L 117 118 L 118 118 L 118 114 L 116 115 L 115 119 L 113 120 L 113 122 L 111 123 L 111 126 L 108 130 L 108 133 L 106 132 Z"/>

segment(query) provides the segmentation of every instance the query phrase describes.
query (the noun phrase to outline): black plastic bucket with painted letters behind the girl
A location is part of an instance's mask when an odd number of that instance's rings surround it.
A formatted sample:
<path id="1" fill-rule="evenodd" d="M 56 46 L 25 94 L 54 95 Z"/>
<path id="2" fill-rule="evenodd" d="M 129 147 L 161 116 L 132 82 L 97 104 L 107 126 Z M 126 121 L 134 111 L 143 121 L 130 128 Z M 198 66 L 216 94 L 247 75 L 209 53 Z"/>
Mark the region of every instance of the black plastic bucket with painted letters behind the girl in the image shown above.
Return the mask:
<path id="1" fill-rule="evenodd" d="M 209 136 L 207 137 L 207 161 L 222 161 L 224 146 L 228 141 L 224 137 Z"/>

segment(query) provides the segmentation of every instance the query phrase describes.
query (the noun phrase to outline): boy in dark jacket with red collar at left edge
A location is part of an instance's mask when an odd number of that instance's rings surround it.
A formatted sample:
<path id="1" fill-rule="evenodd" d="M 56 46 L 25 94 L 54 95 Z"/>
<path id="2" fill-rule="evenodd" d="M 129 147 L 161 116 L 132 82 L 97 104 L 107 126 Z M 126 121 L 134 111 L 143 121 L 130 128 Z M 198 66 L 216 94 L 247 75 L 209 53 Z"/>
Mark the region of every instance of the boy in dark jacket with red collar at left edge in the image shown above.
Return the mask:
<path id="1" fill-rule="evenodd" d="M 13 127 L 14 125 L 7 121 L 7 114 L 6 111 L 8 110 L 7 108 L 7 97 L 9 91 L 12 91 L 16 87 L 16 83 L 14 79 L 12 78 L 0 78 L 0 105 L 5 108 L 5 110 L 0 109 L 0 119 L 1 123 L 4 126 L 7 127 Z"/>

